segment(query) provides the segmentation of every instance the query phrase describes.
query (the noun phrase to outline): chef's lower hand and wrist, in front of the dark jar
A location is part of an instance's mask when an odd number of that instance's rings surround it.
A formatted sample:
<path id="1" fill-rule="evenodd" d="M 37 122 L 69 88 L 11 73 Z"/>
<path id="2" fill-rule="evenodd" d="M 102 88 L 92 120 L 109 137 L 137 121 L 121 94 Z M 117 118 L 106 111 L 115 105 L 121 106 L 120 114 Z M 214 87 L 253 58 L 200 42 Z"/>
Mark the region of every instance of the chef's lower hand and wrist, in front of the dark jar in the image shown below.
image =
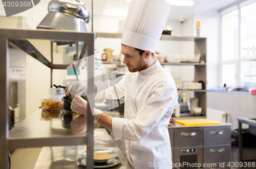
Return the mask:
<path id="1" fill-rule="evenodd" d="M 71 109 L 80 115 L 87 116 L 87 104 L 88 102 L 86 100 L 84 100 L 80 96 L 75 96 L 71 103 Z M 94 123 L 96 123 L 99 120 L 99 117 L 102 111 L 94 108 L 94 112 L 92 113 L 93 113 Z"/>

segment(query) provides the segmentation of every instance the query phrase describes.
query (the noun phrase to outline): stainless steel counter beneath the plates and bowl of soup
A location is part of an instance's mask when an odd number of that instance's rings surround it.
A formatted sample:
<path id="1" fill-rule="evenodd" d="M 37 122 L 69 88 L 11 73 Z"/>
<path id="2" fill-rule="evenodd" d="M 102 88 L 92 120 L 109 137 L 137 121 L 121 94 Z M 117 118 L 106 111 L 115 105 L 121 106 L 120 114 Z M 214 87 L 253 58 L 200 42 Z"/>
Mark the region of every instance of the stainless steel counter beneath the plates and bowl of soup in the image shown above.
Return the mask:
<path id="1" fill-rule="evenodd" d="M 105 129 L 95 129 L 103 131 L 103 135 L 94 138 L 94 149 L 109 149 L 118 153 L 121 162 L 111 168 L 133 168 L 126 157 L 122 154 L 120 149 L 114 143 L 108 132 Z M 86 145 L 79 146 L 58 146 L 58 147 L 44 147 L 36 161 L 34 168 L 86 168 L 77 162 L 81 157 L 81 153 L 86 151 Z"/>

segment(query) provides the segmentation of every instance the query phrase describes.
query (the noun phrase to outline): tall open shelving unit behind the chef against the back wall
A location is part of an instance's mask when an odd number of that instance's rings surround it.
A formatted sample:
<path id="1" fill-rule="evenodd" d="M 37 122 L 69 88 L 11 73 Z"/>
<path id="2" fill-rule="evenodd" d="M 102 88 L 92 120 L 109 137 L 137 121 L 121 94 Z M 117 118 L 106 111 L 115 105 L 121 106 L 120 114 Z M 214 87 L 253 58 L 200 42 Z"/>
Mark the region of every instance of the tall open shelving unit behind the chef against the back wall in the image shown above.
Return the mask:
<path id="1" fill-rule="evenodd" d="M 113 33 L 96 33 L 97 38 L 122 38 L 122 34 L 113 34 Z M 202 90 L 178 90 L 179 91 L 192 91 L 194 96 L 199 98 L 199 106 L 202 107 L 202 110 L 206 117 L 206 38 L 203 37 L 181 37 L 181 36 L 171 36 L 171 35 L 162 35 L 160 40 L 165 41 L 193 41 L 195 43 L 195 54 L 204 53 L 205 54 L 205 63 L 167 63 L 162 62 L 161 65 L 175 65 L 175 66 L 194 66 L 195 67 L 195 82 L 204 81 L 204 86 Z M 103 64 L 116 64 L 119 65 L 120 62 L 107 62 L 103 61 Z M 204 117 L 204 118 L 205 118 Z M 199 118 L 199 117 L 191 117 Z"/>

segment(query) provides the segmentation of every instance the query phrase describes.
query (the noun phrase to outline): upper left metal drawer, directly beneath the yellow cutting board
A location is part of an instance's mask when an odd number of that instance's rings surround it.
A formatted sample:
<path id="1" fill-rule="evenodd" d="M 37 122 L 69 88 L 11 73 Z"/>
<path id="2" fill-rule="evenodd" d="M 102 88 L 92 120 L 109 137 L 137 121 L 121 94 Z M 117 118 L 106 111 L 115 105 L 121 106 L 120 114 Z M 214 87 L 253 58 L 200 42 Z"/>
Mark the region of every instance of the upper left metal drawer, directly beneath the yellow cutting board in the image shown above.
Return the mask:
<path id="1" fill-rule="evenodd" d="M 203 146 L 203 129 L 175 129 L 174 147 Z"/>

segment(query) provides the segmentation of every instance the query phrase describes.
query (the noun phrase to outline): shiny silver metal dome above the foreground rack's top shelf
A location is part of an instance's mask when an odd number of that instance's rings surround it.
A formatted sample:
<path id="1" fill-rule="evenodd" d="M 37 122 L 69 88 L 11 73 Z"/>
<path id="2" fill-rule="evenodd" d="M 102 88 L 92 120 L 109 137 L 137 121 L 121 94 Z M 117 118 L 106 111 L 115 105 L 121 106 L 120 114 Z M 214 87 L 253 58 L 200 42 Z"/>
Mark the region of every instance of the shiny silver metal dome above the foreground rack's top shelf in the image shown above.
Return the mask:
<path id="1" fill-rule="evenodd" d="M 88 32 L 87 23 L 91 14 L 83 2 L 78 0 L 52 0 L 48 5 L 49 13 L 36 29 L 70 30 Z"/>

